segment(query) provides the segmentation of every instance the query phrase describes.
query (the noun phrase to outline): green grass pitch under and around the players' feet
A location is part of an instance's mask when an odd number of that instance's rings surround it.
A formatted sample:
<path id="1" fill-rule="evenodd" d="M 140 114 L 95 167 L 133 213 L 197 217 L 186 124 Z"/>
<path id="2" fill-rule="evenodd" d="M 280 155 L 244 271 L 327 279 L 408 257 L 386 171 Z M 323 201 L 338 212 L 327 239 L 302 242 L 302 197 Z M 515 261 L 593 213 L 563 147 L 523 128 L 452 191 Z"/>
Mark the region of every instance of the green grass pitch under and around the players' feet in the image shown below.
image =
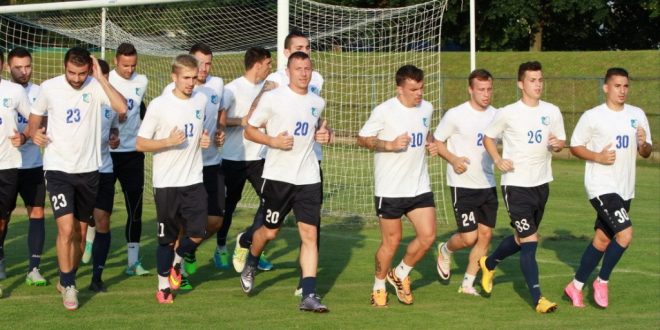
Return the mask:
<path id="1" fill-rule="evenodd" d="M 158 305 L 154 294 L 156 278 L 128 278 L 125 266 L 121 198 L 113 216 L 113 244 L 104 274 L 109 292 L 93 295 L 86 290 L 90 267 L 82 266 L 78 277 L 81 308 L 67 312 L 53 285 L 45 288 L 23 284 L 26 268 L 27 220 L 16 216 L 9 228 L 5 245 L 9 278 L 0 282 L 5 291 L 0 299 L 2 327 L 12 328 L 654 328 L 660 324 L 660 168 L 641 163 L 637 172 L 637 198 L 630 212 L 635 238 L 610 282 L 610 307 L 595 307 L 586 289 L 587 307 L 575 309 L 563 298 L 564 285 L 571 279 L 584 247 L 593 234 L 594 212 L 586 200 L 583 162 L 556 160 L 555 181 L 541 225 L 541 243 L 537 254 L 544 295 L 559 303 L 551 315 L 536 314 L 519 271 L 517 256 L 498 268 L 490 298 L 475 298 L 456 293 L 465 268 L 467 251 L 455 254 L 451 283 L 438 280 L 435 253 L 429 253 L 412 273 L 415 304 L 404 306 L 390 293 L 390 306 L 369 306 L 373 281 L 373 254 L 380 235 L 373 218 L 326 217 L 323 220 L 321 257 L 318 275 L 319 292 L 331 309 L 327 315 L 302 313 L 293 297 L 297 282 L 296 256 L 299 239 L 290 224 L 267 252 L 275 270 L 260 273 L 255 292 L 246 297 L 238 275 L 218 271 L 210 258 L 213 243 L 198 252 L 199 272 L 192 277 L 196 289 L 179 295 L 169 306 Z M 340 194 L 341 192 L 337 192 Z M 436 194 L 439 192 L 436 191 Z M 118 196 L 119 197 L 119 196 Z M 498 225 L 493 243 L 511 233 L 508 218 L 500 203 Z M 248 224 L 252 210 L 241 209 L 230 232 L 233 237 Z M 143 263 L 154 269 L 154 208 L 145 206 L 143 226 Z M 46 252 L 42 270 L 54 282 L 57 279 L 54 251 L 55 227 L 47 218 Z M 446 239 L 455 225 L 439 224 L 438 240 Z M 403 244 L 412 239 L 412 228 L 404 226 Z M 400 249 L 402 250 L 402 249 Z M 395 261 L 400 260 L 399 251 Z M 592 277 L 595 274 L 592 275 Z"/>

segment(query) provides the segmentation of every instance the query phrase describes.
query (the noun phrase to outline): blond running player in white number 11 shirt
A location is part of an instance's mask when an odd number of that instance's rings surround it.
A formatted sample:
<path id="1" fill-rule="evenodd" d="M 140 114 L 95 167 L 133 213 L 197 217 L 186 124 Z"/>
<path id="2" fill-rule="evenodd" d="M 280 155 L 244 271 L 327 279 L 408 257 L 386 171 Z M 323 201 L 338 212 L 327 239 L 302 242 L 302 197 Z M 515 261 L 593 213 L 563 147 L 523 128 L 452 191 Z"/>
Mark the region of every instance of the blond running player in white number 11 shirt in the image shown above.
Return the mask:
<path id="1" fill-rule="evenodd" d="M 194 90 L 198 63 L 179 55 L 172 63 L 174 89 L 149 104 L 138 132 L 136 148 L 153 152 L 153 187 L 156 203 L 158 248 L 156 300 L 172 303 L 172 290 L 181 285 L 183 256 L 206 237 L 207 194 L 203 184 L 200 148 L 211 144 L 204 129 L 208 98 Z M 179 233 L 178 247 L 174 244 Z"/>

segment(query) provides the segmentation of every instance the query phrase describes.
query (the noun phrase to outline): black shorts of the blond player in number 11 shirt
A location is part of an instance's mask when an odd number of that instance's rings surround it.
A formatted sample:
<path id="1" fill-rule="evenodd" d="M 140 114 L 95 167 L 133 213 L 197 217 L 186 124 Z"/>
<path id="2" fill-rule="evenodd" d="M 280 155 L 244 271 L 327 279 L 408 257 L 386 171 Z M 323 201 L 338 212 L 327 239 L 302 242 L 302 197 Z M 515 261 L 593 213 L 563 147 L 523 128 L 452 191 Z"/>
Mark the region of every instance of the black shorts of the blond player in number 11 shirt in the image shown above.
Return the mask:
<path id="1" fill-rule="evenodd" d="M 159 244 L 174 243 L 183 229 L 188 237 L 206 237 L 206 190 L 204 184 L 154 188 Z"/>

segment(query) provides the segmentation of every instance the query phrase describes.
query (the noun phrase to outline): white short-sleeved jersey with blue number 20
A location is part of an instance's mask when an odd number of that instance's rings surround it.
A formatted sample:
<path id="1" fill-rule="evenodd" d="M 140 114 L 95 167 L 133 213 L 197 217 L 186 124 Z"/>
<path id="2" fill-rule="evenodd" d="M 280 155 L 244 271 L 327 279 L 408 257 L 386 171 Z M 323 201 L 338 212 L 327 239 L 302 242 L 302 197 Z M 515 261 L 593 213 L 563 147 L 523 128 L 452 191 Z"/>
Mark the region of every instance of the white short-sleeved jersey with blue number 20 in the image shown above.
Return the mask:
<path id="1" fill-rule="evenodd" d="M 264 93 L 249 124 L 266 124 L 267 134 L 277 136 L 286 131 L 293 136 L 293 149 L 268 148 L 263 178 L 305 185 L 321 182 L 318 159 L 312 150 L 319 117 L 325 101 L 318 95 L 300 95 L 288 86 Z"/>

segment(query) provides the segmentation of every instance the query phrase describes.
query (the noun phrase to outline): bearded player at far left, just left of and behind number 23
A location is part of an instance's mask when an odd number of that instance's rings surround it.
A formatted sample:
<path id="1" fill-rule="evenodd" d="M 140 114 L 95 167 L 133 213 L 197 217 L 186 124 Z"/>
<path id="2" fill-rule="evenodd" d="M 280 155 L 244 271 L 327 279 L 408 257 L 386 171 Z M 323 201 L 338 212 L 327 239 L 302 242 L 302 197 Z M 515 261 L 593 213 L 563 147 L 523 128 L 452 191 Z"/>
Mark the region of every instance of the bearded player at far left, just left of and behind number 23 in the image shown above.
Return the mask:
<path id="1" fill-rule="evenodd" d="M 7 54 L 7 64 L 11 80 L 20 84 L 28 94 L 30 103 L 34 102 L 39 95 L 39 85 L 33 84 L 32 79 L 32 55 L 23 47 L 16 47 Z M 27 117 L 18 116 L 18 131 L 23 132 L 27 127 Z M 43 286 L 48 282 L 41 275 L 41 254 L 44 251 L 46 239 L 46 228 L 44 222 L 44 205 L 46 199 L 46 185 L 44 183 L 43 160 L 41 150 L 32 140 L 27 140 L 19 148 L 23 165 L 18 169 L 18 189 L 16 198 L 21 195 L 23 204 L 28 213 L 28 274 L 25 283 L 28 285 Z M 6 235 L 6 231 L 5 231 Z M 0 266 L 0 273 L 2 273 Z M 0 275 L 1 276 L 1 275 Z"/>

